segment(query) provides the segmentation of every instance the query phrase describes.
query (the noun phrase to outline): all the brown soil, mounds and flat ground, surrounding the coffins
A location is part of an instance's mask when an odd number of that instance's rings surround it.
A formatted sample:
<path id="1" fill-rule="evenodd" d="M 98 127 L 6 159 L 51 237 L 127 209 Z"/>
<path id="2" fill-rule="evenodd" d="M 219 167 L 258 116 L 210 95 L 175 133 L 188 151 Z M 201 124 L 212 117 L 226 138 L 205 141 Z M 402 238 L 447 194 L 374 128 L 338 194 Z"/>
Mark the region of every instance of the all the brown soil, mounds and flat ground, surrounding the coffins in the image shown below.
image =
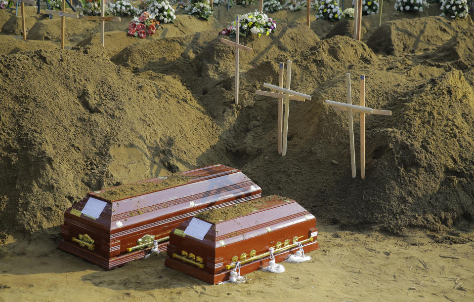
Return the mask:
<path id="1" fill-rule="evenodd" d="M 107 22 L 105 48 L 97 22 L 68 19 L 65 50 L 57 17 L 28 8 L 23 41 L 19 18 L 0 10 L 0 301 L 472 300 L 472 19 L 389 4 L 380 28 L 378 15 L 363 17 L 355 41 L 349 22 L 312 16 L 308 28 L 305 11 L 270 14 L 274 35 L 241 37 L 254 52 L 240 54 L 236 106 L 234 50 L 217 33 L 255 7 L 218 6 L 210 22 L 178 13 L 143 40 L 126 35 L 126 18 Z M 291 102 L 282 157 L 277 101 L 254 92 L 277 84 L 287 59 L 291 88 L 312 100 Z M 347 113 L 324 103 L 346 102 L 345 73 L 353 104 L 365 75 L 366 106 L 392 111 L 366 116 L 364 180 L 359 116 L 352 179 Z M 107 272 L 55 250 L 64 211 L 87 192 L 216 163 L 316 216 L 310 263 L 212 287 L 165 268 L 164 256 Z"/>

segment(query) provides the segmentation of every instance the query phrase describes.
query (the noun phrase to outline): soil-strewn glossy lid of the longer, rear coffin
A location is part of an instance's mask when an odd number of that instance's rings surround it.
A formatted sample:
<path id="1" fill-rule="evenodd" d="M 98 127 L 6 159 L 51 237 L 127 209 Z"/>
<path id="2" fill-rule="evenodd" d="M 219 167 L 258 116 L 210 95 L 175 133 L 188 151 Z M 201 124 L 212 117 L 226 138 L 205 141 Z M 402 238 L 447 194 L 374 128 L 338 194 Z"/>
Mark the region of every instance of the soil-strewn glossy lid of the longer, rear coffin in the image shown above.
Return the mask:
<path id="1" fill-rule="evenodd" d="M 92 220 L 84 215 L 81 218 L 84 217 L 90 223 L 107 226 L 111 231 L 125 231 L 133 225 L 141 224 L 150 219 L 166 218 L 173 215 L 173 213 L 192 211 L 194 207 L 209 202 L 211 199 L 214 200 L 216 196 L 219 199 L 225 199 L 241 194 L 242 190 L 249 193 L 260 190 L 259 186 L 245 176 L 241 170 L 220 164 L 179 174 L 189 177 L 189 179 L 185 179 L 184 183 L 176 186 L 136 195 L 132 194 L 126 198 L 110 200 L 101 197 L 101 193 L 107 192 L 107 190 L 120 189 L 123 186 L 90 192 L 82 201 L 74 204 L 68 212 L 74 209 L 82 211 L 90 198 L 99 199 L 107 202 L 99 218 Z M 165 180 L 153 178 L 134 184 L 160 183 Z"/>

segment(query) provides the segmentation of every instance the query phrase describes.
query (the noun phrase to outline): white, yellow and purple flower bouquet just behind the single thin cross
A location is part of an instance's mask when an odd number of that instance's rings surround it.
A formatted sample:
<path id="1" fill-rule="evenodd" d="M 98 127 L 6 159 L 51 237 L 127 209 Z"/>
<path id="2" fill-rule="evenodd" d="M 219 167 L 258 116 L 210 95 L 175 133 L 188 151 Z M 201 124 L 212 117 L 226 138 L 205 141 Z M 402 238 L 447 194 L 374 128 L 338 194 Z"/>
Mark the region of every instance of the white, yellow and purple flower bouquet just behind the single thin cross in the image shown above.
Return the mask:
<path id="1" fill-rule="evenodd" d="M 240 16 L 239 35 L 249 36 L 265 34 L 269 36 L 276 29 L 276 23 L 263 12 L 255 11 Z M 233 21 L 229 26 L 224 28 L 219 35 L 227 35 L 235 37 L 236 22 Z"/>

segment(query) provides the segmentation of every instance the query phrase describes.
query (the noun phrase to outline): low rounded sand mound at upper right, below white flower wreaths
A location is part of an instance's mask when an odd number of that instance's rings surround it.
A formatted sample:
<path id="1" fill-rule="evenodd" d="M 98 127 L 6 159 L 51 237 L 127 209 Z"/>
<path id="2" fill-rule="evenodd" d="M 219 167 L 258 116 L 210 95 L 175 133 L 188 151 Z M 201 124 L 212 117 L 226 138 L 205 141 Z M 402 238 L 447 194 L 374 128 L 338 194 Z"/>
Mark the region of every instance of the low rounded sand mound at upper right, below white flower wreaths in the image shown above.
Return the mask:
<path id="1" fill-rule="evenodd" d="M 421 53 L 442 45 L 455 34 L 473 27 L 471 18 L 424 17 L 389 21 L 367 39 L 375 52 L 390 55 Z"/>

